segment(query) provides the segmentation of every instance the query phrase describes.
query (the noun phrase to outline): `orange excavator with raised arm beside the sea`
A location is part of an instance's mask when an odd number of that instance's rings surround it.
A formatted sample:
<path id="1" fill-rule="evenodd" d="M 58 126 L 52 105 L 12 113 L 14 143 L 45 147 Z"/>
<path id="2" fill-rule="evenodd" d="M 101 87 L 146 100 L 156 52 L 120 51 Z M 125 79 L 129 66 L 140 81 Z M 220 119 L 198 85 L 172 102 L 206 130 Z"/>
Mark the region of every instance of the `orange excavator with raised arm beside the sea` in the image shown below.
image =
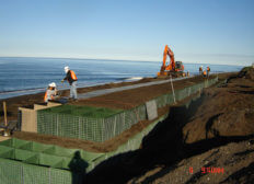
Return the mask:
<path id="1" fill-rule="evenodd" d="M 166 66 L 166 56 L 170 57 L 170 64 Z M 163 64 L 161 66 L 161 71 L 158 72 L 158 77 L 185 77 L 184 65 L 182 61 L 174 60 L 174 53 L 165 45 L 163 53 Z"/>

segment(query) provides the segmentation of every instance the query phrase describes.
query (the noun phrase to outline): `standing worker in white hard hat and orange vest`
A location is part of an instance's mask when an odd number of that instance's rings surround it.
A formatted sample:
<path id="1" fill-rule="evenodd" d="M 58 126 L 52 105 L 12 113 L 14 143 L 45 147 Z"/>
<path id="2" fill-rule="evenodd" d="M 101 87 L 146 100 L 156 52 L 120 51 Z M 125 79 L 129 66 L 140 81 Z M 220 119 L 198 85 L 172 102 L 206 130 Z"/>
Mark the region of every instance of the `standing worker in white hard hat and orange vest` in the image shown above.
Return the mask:
<path id="1" fill-rule="evenodd" d="M 78 78 L 77 78 L 74 71 L 70 70 L 70 68 L 68 66 L 65 67 L 65 72 L 66 72 L 66 77 L 65 77 L 65 79 L 61 80 L 61 82 L 65 82 L 65 80 L 67 80 L 69 82 L 69 84 L 70 84 L 70 99 L 78 101 L 78 96 L 77 96 Z"/>

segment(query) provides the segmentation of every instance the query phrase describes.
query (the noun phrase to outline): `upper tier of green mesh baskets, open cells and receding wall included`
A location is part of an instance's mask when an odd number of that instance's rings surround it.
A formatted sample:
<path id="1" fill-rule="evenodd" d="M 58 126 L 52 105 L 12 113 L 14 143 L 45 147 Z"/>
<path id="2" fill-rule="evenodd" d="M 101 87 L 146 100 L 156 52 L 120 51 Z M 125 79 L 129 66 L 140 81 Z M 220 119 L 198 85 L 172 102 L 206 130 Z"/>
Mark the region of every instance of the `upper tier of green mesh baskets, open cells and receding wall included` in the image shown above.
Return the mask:
<path id="1" fill-rule="evenodd" d="M 176 90 L 175 100 L 181 101 L 217 81 L 218 78 L 212 78 Z M 172 93 L 158 96 L 154 100 L 158 107 L 174 103 Z M 103 142 L 145 119 L 147 119 L 146 104 L 128 111 L 61 105 L 37 112 L 37 133 Z"/>

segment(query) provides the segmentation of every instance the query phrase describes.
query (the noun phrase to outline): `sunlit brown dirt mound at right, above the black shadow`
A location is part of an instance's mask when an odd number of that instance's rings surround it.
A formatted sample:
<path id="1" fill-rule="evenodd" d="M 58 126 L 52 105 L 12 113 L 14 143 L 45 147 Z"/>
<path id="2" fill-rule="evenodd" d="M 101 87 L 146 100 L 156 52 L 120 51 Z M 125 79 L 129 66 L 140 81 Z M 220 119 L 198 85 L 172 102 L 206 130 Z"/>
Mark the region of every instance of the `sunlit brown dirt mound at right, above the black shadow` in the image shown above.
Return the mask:
<path id="1" fill-rule="evenodd" d="M 220 88 L 205 90 L 205 101 L 184 127 L 186 142 L 254 133 L 254 69 L 242 70 Z"/>

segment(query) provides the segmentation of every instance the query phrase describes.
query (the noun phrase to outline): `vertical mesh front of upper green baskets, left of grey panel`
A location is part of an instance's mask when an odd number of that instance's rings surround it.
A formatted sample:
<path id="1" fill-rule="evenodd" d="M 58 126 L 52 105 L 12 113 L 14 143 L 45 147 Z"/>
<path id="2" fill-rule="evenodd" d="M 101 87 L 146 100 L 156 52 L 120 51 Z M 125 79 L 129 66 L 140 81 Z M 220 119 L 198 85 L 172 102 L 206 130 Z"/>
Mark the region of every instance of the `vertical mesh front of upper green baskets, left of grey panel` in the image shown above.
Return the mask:
<path id="1" fill-rule="evenodd" d="M 51 113 L 47 110 L 42 110 L 37 112 L 37 131 L 38 134 L 102 142 L 119 135 L 146 118 L 145 105 L 97 118 Z"/>

